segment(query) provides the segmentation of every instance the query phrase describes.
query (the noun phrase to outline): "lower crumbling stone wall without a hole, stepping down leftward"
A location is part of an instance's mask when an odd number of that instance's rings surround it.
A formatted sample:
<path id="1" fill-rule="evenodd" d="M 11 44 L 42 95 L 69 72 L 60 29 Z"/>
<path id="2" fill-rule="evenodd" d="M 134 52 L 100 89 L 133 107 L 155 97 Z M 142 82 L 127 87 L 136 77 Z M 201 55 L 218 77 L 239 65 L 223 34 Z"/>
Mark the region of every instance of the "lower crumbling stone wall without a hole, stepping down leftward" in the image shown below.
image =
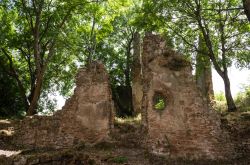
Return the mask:
<path id="1" fill-rule="evenodd" d="M 76 88 L 62 110 L 53 116 L 27 117 L 15 126 L 14 142 L 30 147 L 64 148 L 97 143 L 113 127 L 113 101 L 109 77 L 100 63 L 82 68 Z"/>

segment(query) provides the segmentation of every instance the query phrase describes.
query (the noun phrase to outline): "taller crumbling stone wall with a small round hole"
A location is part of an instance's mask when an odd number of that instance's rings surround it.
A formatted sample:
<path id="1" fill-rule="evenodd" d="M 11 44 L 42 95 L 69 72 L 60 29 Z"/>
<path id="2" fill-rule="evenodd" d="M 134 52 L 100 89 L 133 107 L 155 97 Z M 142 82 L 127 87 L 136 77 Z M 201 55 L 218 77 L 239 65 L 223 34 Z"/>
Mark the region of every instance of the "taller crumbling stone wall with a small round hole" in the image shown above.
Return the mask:
<path id="1" fill-rule="evenodd" d="M 142 122 L 151 152 L 171 158 L 225 159 L 234 153 L 220 118 L 199 93 L 191 65 L 156 35 L 143 43 Z M 162 96 L 165 108 L 156 109 Z"/>

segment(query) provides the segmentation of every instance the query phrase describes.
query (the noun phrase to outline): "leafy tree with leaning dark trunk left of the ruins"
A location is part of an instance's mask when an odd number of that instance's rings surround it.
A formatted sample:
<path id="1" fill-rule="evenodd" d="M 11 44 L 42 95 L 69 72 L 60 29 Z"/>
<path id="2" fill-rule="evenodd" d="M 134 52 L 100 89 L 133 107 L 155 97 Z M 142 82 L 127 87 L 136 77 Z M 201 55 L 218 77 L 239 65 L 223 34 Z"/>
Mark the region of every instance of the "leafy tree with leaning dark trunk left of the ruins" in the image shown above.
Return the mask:
<path id="1" fill-rule="evenodd" d="M 85 1 L 10 1 L 2 6 L 6 12 L 13 13 L 7 24 L 11 29 L 1 28 L 5 36 L 1 44 L 1 53 L 8 59 L 10 76 L 18 83 L 24 100 L 27 115 L 37 113 L 37 104 L 42 93 L 46 72 L 53 63 L 60 64 L 58 51 L 60 39 L 65 35 L 66 23 L 72 12 Z M 62 68 L 60 66 L 60 68 Z M 47 79 L 48 80 L 48 79 Z M 49 81 L 49 80 L 48 80 Z"/>

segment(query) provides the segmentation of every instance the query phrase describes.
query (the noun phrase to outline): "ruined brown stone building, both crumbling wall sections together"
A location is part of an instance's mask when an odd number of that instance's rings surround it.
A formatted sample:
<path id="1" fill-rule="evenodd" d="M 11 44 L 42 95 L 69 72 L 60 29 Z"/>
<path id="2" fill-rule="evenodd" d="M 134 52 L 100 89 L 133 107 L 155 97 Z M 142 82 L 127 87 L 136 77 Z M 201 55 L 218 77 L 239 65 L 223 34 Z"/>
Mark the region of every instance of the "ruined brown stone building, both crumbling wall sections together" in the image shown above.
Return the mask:
<path id="1" fill-rule="evenodd" d="M 170 158 L 226 159 L 234 154 L 219 116 L 201 97 L 191 64 L 168 49 L 157 35 L 144 38 L 133 75 L 133 100 L 142 113 L 144 147 Z M 139 67 L 138 67 L 139 66 Z M 74 95 L 53 116 L 20 121 L 16 144 L 32 147 L 72 147 L 113 140 L 113 101 L 104 66 L 80 69 Z M 137 137 L 134 137 L 137 138 Z"/>

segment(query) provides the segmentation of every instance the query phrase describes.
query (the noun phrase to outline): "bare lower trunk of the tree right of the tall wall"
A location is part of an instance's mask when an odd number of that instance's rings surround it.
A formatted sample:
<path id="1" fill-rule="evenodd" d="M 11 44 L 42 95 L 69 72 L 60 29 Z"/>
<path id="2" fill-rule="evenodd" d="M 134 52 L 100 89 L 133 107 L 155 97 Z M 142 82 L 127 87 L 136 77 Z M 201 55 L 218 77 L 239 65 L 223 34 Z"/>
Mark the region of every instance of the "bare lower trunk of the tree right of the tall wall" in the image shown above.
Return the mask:
<path id="1" fill-rule="evenodd" d="M 229 81 L 227 72 L 224 72 L 224 76 L 222 78 L 223 78 L 224 86 L 225 86 L 225 97 L 227 100 L 228 111 L 235 112 L 237 108 L 236 108 L 236 105 L 234 103 L 234 100 L 231 94 L 230 81 Z"/>

